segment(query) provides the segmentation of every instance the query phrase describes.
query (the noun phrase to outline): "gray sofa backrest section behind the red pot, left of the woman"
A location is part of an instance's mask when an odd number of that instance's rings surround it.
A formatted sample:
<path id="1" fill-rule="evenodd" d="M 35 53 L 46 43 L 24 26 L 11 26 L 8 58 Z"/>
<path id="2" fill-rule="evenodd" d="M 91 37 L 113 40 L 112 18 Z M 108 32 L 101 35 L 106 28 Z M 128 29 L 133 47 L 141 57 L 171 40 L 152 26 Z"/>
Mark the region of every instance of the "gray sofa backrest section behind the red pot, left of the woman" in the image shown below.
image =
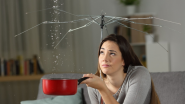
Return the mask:
<path id="1" fill-rule="evenodd" d="M 77 73 L 64 73 L 64 74 L 47 74 L 44 75 L 42 78 L 70 78 L 70 79 L 79 79 L 82 78 L 83 74 L 77 74 Z M 42 90 L 42 78 L 40 79 L 39 83 L 39 89 L 38 89 L 38 95 L 37 99 L 43 99 L 43 98 L 49 98 L 49 97 L 54 97 L 54 95 L 46 95 L 43 93 Z M 90 104 L 90 99 L 89 95 L 87 92 L 87 87 L 85 84 L 80 84 L 78 87 L 83 88 L 83 96 L 84 96 L 84 103 L 85 104 Z"/>

